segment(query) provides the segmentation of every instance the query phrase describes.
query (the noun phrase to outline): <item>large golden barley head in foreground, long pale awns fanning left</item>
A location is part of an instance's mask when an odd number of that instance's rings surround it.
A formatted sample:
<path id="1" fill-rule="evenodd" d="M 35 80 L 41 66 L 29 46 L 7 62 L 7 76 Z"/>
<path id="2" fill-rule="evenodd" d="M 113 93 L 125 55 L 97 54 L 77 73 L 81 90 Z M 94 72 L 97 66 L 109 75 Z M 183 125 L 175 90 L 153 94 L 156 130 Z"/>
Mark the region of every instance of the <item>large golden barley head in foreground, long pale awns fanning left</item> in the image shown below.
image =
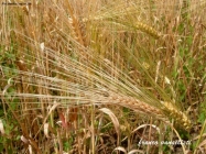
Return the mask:
<path id="1" fill-rule="evenodd" d="M 15 84 L 23 84 L 24 87 L 41 87 L 40 94 L 10 94 L 10 97 L 20 97 L 20 98 L 26 98 L 25 100 L 31 101 L 32 98 L 39 98 L 39 99 L 48 99 L 52 101 L 55 100 L 69 100 L 68 106 L 75 106 L 78 101 L 78 106 L 80 105 L 119 105 L 126 108 L 130 108 L 134 110 L 135 112 L 144 113 L 149 117 L 155 117 L 156 119 L 161 119 L 163 121 L 167 121 L 167 118 L 174 119 L 177 125 L 178 123 L 183 123 L 183 129 L 189 130 L 191 128 L 191 121 L 180 110 L 177 110 L 172 103 L 164 102 L 161 107 L 155 107 L 152 105 L 147 103 L 147 101 L 143 101 L 148 98 L 147 95 L 142 94 L 140 89 L 132 89 L 130 84 L 122 85 L 120 80 L 117 80 L 112 78 L 110 75 L 105 74 L 104 72 L 99 72 L 98 67 L 87 66 L 84 65 L 77 61 L 72 61 L 69 57 L 58 57 L 58 64 L 54 61 L 56 58 L 55 51 L 50 51 L 50 63 L 54 65 L 56 68 L 62 67 L 62 73 L 57 70 L 53 70 L 55 74 L 58 74 L 59 76 L 65 76 L 71 81 L 63 80 L 61 78 L 52 78 L 44 75 L 41 75 L 40 73 L 30 73 L 25 68 L 25 65 L 19 64 L 20 70 L 19 70 L 19 77 L 15 77 Z M 46 57 L 45 57 L 46 58 Z M 100 61 L 100 59 L 99 59 Z M 89 70 L 89 75 L 83 70 Z M 11 72 L 15 72 L 11 69 Z M 119 70 L 121 72 L 121 70 Z M 78 74 L 76 77 L 75 74 Z M 23 77 L 23 80 L 22 80 Z M 129 78 L 128 78 L 129 79 Z M 86 82 L 84 84 L 83 80 Z M 98 88 L 93 88 L 93 82 L 95 81 L 95 85 Z M 76 84 L 75 84 L 76 82 Z M 91 87 L 90 87 L 90 86 Z M 120 89 L 127 89 L 133 95 L 141 95 L 144 97 L 143 100 L 139 100 L 135 97 L 129 97 L 126 94 L 118 92 Z M 134 87 L 133 87 L 134 88 Z M 25 89 L 25 88 L 24 88 Z M 105 89 L 104 91 L 100 89 Z M 46 91 L 47 92 L 46 92 Z M 65 96 L 52 96 L 48 95 L 51 90 L 56 90 L 61 92 L 65 92 Z M 4 90 L 7 91 L 7 89 Z M 44 92 L 43 92 L 44 91 Z M 121 91 L 121 90 L 120 90 Z M 137 94 L 135 94 L 137 92 Z M 1 94 L 4 96 L 6 92 Z M 152 100 L 150 100 L 152 101 Z"/>

